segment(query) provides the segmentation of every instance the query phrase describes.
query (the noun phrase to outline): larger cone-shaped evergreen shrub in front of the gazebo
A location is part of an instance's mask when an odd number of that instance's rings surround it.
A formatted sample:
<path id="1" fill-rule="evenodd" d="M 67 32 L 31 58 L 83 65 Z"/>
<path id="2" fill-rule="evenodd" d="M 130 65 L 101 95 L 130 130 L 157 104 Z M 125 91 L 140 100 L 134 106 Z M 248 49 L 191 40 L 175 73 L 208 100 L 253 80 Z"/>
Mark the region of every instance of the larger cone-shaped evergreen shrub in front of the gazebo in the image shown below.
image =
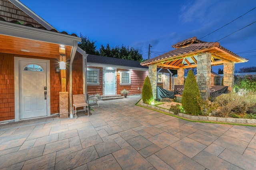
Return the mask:
<path id="1" fill-rule="evenodd" d="M 196 83 L 196 78 L 192 70 L 189 70 L 181 100 L 186 113 L 192 115 L 202 114 L 200 104 L 198 103 L 199 98 L 201 98 L 201 96 Z"/>

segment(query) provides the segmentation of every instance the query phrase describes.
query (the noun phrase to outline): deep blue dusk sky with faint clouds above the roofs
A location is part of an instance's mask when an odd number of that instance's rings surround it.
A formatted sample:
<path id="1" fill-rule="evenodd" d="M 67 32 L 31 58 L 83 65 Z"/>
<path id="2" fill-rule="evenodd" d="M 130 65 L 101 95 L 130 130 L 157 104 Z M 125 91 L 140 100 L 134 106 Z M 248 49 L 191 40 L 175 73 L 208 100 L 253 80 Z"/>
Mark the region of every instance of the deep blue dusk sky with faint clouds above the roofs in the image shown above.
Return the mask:
<path id="1" fill-rule="evenodd" d="M 78 36 L 81 33 L 96 41 L 98 48 L 107 43 L 110 47 L 134 47 L 148 59 L 150 44 L 151 59 L 173 50 L 173 44 L 195 36 L 202 41 L 217 41 L 222 47 L 249 59 L 247 63 L 235 64 L 235 70 L 256 66 L 256 0 L 20 2 L 58 31 Z M 213 67 L 213 71 L 218 72 L 218 68 L 223 66 Z"/>

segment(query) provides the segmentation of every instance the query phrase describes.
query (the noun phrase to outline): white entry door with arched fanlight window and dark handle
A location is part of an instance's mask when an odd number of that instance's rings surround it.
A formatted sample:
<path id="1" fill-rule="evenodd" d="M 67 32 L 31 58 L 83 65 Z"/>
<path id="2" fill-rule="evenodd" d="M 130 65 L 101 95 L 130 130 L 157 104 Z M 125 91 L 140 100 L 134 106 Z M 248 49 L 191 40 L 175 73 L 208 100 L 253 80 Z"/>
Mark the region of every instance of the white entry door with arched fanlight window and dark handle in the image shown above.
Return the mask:
<path id="1" fill-rule="evenodd" d="M 20 61 L 19 64 L 20 119 L 47 116 L 46 63 Z"/>

